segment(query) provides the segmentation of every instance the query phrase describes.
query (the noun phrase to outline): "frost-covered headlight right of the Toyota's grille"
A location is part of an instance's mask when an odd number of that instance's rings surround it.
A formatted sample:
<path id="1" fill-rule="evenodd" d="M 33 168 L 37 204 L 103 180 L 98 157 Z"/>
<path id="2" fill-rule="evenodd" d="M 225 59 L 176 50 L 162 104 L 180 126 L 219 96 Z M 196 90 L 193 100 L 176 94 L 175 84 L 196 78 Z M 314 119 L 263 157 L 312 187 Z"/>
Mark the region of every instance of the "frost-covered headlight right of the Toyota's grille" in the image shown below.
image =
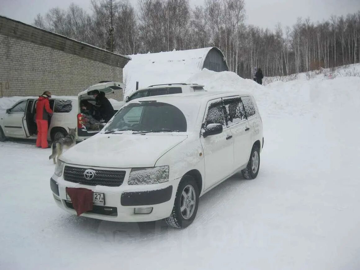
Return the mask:
<path id="1" fill-rule="evenodd" d="M 169 181 L 169 166 L 131 169 L 129 185 L 148 185 Z"/>

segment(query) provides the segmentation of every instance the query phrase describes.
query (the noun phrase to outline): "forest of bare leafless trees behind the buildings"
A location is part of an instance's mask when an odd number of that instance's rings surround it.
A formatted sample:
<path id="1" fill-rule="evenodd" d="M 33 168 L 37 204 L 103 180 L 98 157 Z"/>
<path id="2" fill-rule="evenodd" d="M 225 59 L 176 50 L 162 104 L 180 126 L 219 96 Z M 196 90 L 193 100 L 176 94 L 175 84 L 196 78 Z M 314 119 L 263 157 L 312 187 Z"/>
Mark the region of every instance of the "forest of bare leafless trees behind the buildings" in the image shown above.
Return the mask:
<path id="1" fill-rule="evenodd" d="M 244 0 L 91 0 L 92 13 L 71 4 L 34 20 L 37 27 L 123 55 L 216 46 L 230 71 L 283 76 L 360 62 L 360 11 L 314 23 L 298 18 L 275 31 L 246 25 Z"/>

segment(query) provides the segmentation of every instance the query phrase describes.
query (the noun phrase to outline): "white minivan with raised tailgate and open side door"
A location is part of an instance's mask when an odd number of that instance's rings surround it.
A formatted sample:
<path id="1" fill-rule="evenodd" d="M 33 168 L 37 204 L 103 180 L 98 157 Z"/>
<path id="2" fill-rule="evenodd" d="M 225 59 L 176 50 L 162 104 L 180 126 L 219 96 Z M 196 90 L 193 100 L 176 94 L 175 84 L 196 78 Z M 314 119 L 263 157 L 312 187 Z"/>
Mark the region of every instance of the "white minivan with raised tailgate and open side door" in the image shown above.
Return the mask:
<path id="1" fill-rule="evenodd" d="M 93 91 L 103 91 L 105 94 L 125 89 L 121 82 L 102 81 L 91 85 L 78 96 L 52 96 L 49 99 L 53 115 L 49 120 L 48 139 L 57 140 L 67 135 L 68 129 L 77 127 L 76 140 L 84 140 L 99 132 L 99 129 L 89 129 L 84 125 L 84 115 L 80 104 L 87 100 L 95 104 Z M 37 126 L 35 121 L 37 98 L 22 99 L 0 114 L 0 141 L 6 138 L 36 139 Z"/>

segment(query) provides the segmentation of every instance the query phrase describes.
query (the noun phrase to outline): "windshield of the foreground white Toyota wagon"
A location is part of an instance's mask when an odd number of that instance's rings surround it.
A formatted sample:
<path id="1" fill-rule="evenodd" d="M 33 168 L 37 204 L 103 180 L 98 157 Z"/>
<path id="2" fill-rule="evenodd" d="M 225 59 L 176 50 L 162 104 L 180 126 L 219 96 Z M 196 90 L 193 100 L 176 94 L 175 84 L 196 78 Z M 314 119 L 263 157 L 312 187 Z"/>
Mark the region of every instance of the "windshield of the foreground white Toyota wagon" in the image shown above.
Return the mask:
<path id="1" fill-rule="evenodd" d="M 156 101 L 130 103 L 106 125 L 104 133 L 131 130 L 136 132 L 186 132 L 184 113 L 174 105 Z"/>

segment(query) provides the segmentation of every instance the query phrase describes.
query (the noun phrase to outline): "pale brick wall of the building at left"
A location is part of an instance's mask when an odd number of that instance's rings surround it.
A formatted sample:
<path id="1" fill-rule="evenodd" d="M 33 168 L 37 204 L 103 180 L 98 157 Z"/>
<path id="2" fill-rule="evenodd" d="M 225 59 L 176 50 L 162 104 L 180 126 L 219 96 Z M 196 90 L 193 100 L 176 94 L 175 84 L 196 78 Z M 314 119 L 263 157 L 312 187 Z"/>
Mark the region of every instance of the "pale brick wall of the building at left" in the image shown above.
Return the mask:
<path id="1" fill-rule="evenodd" d="M 122 82 L 122 68 L 0 34 L 0 97 L 77 95 L 99 81 Z"/>

